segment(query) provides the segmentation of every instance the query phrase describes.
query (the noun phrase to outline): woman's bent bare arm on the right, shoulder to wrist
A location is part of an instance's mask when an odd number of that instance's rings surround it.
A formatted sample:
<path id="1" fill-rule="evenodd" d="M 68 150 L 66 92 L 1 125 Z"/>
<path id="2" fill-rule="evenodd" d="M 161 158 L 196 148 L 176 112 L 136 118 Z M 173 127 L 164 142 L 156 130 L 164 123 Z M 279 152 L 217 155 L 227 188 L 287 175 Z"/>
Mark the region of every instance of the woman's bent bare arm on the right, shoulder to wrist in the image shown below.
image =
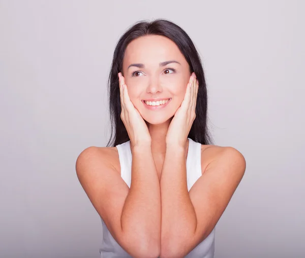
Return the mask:
<path id="1" fill-rule="evenodd" d="M 245 159 L 233 148 L 206 148 L 201 160 L 209 163 L 188 193 L 184 150 L 166 151 L 160 182 L 160 257 L 184 257 L 210 234 L 246 168 Z"/>

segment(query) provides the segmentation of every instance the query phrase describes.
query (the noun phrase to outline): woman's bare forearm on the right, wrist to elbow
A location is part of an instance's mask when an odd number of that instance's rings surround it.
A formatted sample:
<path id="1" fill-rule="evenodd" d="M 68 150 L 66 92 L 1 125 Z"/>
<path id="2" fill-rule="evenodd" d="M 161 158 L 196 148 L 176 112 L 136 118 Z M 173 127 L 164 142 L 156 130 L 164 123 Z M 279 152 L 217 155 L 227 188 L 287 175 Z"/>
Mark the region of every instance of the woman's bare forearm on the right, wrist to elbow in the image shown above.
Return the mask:
<path id="1" fill-rule="evenodd" d="M 166 150 L 160 188 L 161 257 L 167 257 L 177 247 L 176 244 L 194 234 L 197 224 L 195 210 L 188 193 L 184 148 Z"/>

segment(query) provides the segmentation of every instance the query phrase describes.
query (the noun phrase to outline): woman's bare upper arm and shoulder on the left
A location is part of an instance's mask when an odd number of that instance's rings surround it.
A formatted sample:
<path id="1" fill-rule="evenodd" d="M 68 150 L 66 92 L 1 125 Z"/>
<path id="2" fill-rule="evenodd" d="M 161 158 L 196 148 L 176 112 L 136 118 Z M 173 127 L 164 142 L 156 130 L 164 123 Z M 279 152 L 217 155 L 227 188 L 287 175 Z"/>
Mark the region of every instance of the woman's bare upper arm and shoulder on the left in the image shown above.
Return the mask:
<path id="1" fill-rule="evenodd" d="M 128 236 L 121 230 L 121 213 L 129 188 L 120 176 L 116 148 L 90 146 L 76 160 L 76 174 L 94 208 L 114 239 L 124 248 Z"/>

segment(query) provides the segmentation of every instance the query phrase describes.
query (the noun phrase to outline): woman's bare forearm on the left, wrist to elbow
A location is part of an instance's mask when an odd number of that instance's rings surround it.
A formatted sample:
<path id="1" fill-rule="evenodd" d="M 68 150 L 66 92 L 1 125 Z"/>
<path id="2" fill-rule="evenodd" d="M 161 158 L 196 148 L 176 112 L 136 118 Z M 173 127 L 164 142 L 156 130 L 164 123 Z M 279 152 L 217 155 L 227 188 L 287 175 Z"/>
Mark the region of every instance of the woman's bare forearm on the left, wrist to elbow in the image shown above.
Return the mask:
<path id="1" fill-rule="evenodd" d="M 122 231 L 133 235 L 130 245 L 143 247 L 145 257 L 158 257 L 161 237 L 160 183 L 150 145 L 132 149 L 132 178 L 121 216 Z"/>

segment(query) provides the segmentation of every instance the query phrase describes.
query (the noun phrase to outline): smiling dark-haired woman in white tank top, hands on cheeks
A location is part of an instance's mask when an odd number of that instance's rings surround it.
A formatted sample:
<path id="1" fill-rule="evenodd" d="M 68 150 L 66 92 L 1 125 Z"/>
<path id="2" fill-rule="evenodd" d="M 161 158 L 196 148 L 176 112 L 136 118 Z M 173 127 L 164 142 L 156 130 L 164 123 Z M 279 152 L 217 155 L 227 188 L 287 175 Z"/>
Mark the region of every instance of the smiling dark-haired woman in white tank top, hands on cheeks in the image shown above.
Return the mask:
<path id="1" fill-rule="evenodd" d="M 89 147 L 76 162 L 102 218 L 101 257 L 213 257 L 246 162 L 211 145 L 191 39 L 168 20 L 136 23 L 118 41 L 109 85 L 112 147 Z"/>

